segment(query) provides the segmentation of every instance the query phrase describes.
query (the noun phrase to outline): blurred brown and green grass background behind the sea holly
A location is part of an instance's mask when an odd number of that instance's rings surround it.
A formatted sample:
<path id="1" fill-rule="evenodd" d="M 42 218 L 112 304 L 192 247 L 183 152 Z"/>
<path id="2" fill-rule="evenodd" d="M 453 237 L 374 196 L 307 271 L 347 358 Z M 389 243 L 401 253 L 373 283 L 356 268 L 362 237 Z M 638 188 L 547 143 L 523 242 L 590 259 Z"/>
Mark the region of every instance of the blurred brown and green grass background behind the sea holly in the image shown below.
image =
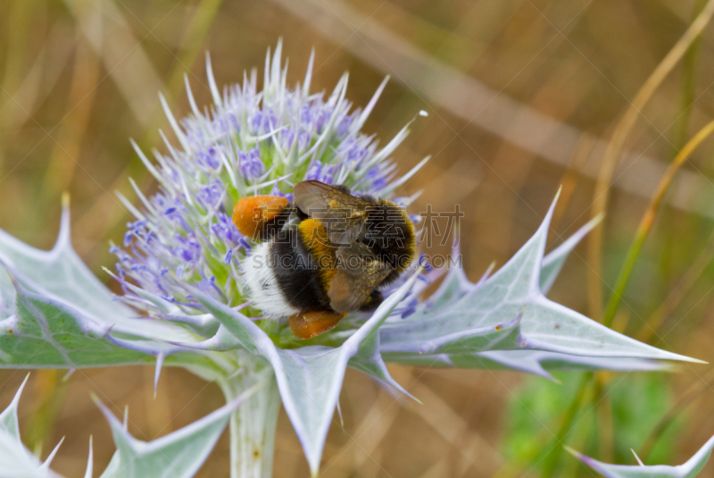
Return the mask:
<path id="1" fill-rule="evenodd" d="M 157 93 L 188 113 L 183 77 L 199 105 L 210 99 L 204 52 L 220 83 L 262 71 L 284 38 L 288 77 L 302 78 L 316 51 L 313 89 L 351 73 L 349 97 L 366 105 L 392 78 L 365 130 L 391 138 L 419 110 L 395 159 L 407 171 L 434 155 L 400 194 L 424 189 L 412 213 L 460 204 L 463 264 L 475 280 L 530 237 L 560 185 L 551 247 L 596 214 L 602 229 L 577 248 L 552 289 L 555 300 L 602 320 L 619 271 L 655 189 L 685 142 L 714 110 L 712 27 L 643 105 L 652 71 L 702 11 L 702 0 L 3 0 L 0 2 L 0 227 L 51 247 L 60 196 L 71 193 L 72 240 L 99 277 L 113 264 L 134 197 L 128 178 L 155 188 L 129 145 L 160 147 L 169 130 Z M 607 141 L 634 108 L 623 154 L 608 177 Z M 618 124 L 620 122 L 620 127 Z M 677 172 L 636 257 L 612 326 L 660 348 L 714 361 L 714 142 Z M 610 151 L 612 153 L 612 151 Z M 615 151 L 617 153 L 617 151 Z M 600 178 L 600 187 L 597 180 Z M 603 196 L 604 194 L 604 196 Z M 602 240 L 597 237 L 602 234 Z M 436 247 L 433 252 L 445 252 Z M 110 286 L 112 284 L 110 283 Z M 647 325 L 649 323 L 649 325 Z M 714 373 L 560 373 L 561 384 L 520 373 L 390 367 L 424 406 L 398 403 L 348 371 L 328 435 L 321 476 L 592 476 L 560 442 L 603 461 L 679 464 L 714 434 Z M 66 436 L 54 469 L 83 474 L 94 435 L 95 470 L 113 452 L 94 392 L 129 431 L 151 440 L 203 416 L 220 391 L 190 373 L 154 369 L 33 372 L 21 429 L 46 457 Z M 0 407 L 25 372 L 0 371 Z M 275 476 L 308 468 L 281 415 Z M 710 476 L 708 465 L 702 476 Z M 95 475 L 98 475 L 96 472 Z M 224 436 L 199 476 L 228 475 Z"/>

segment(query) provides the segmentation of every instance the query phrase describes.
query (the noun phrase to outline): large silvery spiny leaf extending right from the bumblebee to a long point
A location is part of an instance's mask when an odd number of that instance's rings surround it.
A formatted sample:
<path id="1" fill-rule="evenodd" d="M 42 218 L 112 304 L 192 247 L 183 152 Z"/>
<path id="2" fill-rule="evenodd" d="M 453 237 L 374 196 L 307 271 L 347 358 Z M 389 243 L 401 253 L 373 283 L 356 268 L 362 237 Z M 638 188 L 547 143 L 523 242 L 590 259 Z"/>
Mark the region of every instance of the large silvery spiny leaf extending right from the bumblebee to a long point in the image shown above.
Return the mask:
<path id="1" fill-rule="evenodd" d="M 444 289 L 437 290 L 435 298 L 405 319 L 390 318 L 380 328 L 385 360 L 519 348 L 575 356 L 696 362 L 630 339 L 545 298 L 541 268 L 554 205 L 535 235 L 494 275 L 471 284 L 463 273 L 450 271 Z M 557 262 L 559 259 L 554 259 L 552 264 Z M 454 285 L 454 281 L 461 284 Z M 440 297 L 444 290 L 449 295 L 447 301 Z"/>

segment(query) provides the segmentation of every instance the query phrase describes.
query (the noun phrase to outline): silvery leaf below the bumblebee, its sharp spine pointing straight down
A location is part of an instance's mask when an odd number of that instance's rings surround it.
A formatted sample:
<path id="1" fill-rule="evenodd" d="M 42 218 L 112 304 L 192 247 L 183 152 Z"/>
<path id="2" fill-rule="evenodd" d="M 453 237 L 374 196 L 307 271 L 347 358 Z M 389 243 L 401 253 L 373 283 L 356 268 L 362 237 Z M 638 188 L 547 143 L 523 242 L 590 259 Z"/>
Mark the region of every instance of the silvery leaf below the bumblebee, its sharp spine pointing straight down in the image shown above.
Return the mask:
<path id="1" fill-rule="evenodd" d="M 185 345 L 195 348 L 239 346 L 269 361 L 275 372 L 283 407 L 303 445 L 312 474 L 317 474 L 349 360 L 354 356 L 361 355 L 363 359 L 374 354 L 376 342 L 371 341 L 372 336 L 407 295 L 418 275 L 415 273 L 400 289 L 386 298 L 369 320 L 337 348 L 277 348 L 270 337 L 245 315 L 194 289 L 194 297 L 221 323 L 217 336 L 221 334 L 222 337 L 203 344 Z M 229 339 L 226 332 L 230 332 L 233 339 Z M 386 367 L 377 373 L 385 374 L 382 379 L 385 382 L 394 382 L 387 378 Z"/>

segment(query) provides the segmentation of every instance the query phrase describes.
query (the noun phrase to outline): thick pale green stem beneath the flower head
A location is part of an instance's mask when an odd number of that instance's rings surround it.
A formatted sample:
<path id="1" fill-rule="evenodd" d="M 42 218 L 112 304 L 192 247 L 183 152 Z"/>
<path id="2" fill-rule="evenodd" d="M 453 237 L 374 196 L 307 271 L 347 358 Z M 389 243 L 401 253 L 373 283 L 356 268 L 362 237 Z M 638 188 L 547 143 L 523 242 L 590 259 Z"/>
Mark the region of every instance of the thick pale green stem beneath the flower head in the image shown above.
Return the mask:
<path id="1" fill-rule="evenodd" d="M 219 381 L 227 400 L 256 383 L 263 384 L 230 416 L 231 478 L 270 478 L 272 474 L 280 396 L 272 369 L 258 360 L 240 356 L 242 371 Z"/>

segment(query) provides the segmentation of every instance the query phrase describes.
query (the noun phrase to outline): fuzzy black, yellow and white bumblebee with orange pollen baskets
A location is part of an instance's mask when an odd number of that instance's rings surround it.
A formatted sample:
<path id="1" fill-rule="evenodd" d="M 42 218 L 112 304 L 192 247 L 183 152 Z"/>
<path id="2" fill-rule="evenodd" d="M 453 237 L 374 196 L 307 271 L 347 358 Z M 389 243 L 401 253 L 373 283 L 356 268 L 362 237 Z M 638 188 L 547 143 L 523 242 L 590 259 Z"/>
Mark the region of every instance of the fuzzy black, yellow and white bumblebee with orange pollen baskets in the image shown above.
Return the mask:
<path id="1" fill-rule="evenodd" d="M 259 241 L 241 264 L 253 306 L 267 318 L 289 317 L 300 339 L 329 331 L 349 312 L 377 308 L 379 289 L 415 253 L 403 207 L 316 180 L 295 184 L 292 203 L 242 198 L 233 222 Z"/>

